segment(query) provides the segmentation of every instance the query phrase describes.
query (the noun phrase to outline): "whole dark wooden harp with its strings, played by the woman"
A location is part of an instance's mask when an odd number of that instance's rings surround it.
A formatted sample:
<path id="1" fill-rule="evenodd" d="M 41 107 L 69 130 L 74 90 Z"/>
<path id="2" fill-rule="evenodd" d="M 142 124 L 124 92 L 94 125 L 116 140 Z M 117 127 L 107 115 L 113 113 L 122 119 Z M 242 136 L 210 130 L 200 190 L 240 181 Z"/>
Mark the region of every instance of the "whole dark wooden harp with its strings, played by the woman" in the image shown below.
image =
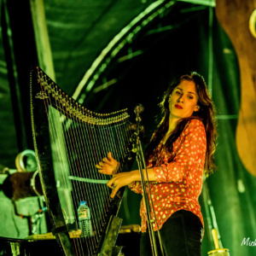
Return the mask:
<path id="1" fill-rule="evenodd" d="M 94 113 L 62 91 L 37 67 L 31 71 L 32 133 L 53 234 L 66 255 L 113 255 L 124 189 L 114 199 L 109 176 L 96 170 L 108 152 L 120 170 L 131 168 L 127 109 Z M 122 172 L 122 171 L 121 171 Z M 93 236 L 71 238 L 78 230 L 79 201 L 90 207 Z"/>

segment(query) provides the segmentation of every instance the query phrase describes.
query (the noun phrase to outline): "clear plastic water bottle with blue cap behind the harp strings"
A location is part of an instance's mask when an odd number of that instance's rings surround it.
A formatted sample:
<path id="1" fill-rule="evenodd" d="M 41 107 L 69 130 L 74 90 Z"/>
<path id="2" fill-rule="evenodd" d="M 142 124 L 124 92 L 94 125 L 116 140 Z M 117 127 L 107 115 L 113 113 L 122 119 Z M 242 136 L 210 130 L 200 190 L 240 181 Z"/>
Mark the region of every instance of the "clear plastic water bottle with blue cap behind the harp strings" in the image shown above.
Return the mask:
<path id="1" fill-rule="evenodd" d="M 90 208 L 86 205 L 86 201 L 79 202 L 79 229 L 81 230 L 81 237 L 92 236 L 92 227 L 90 221 Z"/>

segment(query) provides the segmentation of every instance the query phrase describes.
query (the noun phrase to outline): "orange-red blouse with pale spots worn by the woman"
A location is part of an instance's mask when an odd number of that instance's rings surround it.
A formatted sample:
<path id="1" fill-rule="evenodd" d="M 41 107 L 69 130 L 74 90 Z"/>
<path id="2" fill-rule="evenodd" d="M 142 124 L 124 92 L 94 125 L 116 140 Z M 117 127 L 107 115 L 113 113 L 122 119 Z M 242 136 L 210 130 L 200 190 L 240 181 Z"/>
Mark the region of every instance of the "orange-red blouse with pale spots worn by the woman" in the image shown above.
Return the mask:
<path id="1" fill-rule="evenodd" d="M 148 168 L 153 168 L 156 182 L 150 182 L 154 212 L 159 229 L 172 213 L 178 210 L 194 212 L 201 219 L 201 207 L 198 197 L 201 194 L 202 177 L 207 150 L 206 131 L 202 122 L 192 119 L 180 137 L 173 143 L 173 154 L 166 152 L 163 141 L 160 142 L 148 159 Z M 155 163 L 153 165 L 153 163 Z M 141 182 L 129 186 L 142 194 Z M 147 189 L 148 190 L 148 189 Z M 151 203 L 150 203 L 150 207 Z M 146 232 L 146 212 L 141 201 L 141 230 Z M 153 213 L 151 211 L 151 218 Z M 153 224 L 154 230 L 157 226 Z"/>

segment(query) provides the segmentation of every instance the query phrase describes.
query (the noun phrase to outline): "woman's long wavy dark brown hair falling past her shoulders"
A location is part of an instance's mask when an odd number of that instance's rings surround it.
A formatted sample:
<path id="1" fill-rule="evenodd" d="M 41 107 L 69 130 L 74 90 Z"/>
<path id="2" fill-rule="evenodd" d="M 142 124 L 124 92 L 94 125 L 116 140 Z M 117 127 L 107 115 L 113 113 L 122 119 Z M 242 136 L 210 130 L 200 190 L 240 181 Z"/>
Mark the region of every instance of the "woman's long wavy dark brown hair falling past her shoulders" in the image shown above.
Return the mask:
<path id="1" fill-rule="evenodd" d="M 150 154 L 153 153 L 154 148 L 158 146 L 161 139 L 166 135 L 166 132 L 168 131 L 170 115 L 168 102 L 169 96 L 172 94 L 172 91 L 177 87 L 177 85 L 180 84 L 183 80 L 189 80 L 195 83 L 195 91 L 198 95 L 197 106 L 199 106 L 199 110 L 192 113 L 192 115 L 188 118 L 178 120 L 175 129 L 172 131 L 172 135 L 168 137 L 166 141 L 165 147 L 169 153 L 172 153 L 173 143 L 177 140 L 177 137 L 181 135 L 186 125 L 189 125 L 191 119 L 200 119 L 205 126 L 207 136 L 207 153 L 204 172 L 209 175 L 216 168 L 213 160 L 217 137 L 215 107 L 211 97 L 209 96 L 205 79 L 196 72 L 183 73 L 182 75 L 178 76 L 177 79 L 174 79 L 171 86 L 168 88 L 168 90 L 166 90 L 163 101 L 160 102 L 160 108 L 164 113 L 164 117 L 161 119 L 156 131 L 154 131 L 153 137 L 148 143 L 145 158 L 148 162 Z"/>

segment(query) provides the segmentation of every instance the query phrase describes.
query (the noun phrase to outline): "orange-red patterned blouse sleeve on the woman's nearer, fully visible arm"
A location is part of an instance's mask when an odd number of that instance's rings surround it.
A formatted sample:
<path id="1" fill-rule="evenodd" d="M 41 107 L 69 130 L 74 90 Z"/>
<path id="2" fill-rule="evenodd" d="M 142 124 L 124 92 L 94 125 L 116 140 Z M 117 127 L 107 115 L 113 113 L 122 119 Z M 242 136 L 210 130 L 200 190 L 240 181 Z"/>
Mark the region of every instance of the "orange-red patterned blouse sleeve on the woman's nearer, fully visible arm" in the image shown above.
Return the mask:
<path id="1" fill-rule="evenodd" d="M 206 148 L 204 125 L 199 120 L 192 120 L 183 131 L 182 143 L 173 160 L 153 168 L 156 181 L 171 183 L 182 180 L 189 172 L 204 165 Z"/>

